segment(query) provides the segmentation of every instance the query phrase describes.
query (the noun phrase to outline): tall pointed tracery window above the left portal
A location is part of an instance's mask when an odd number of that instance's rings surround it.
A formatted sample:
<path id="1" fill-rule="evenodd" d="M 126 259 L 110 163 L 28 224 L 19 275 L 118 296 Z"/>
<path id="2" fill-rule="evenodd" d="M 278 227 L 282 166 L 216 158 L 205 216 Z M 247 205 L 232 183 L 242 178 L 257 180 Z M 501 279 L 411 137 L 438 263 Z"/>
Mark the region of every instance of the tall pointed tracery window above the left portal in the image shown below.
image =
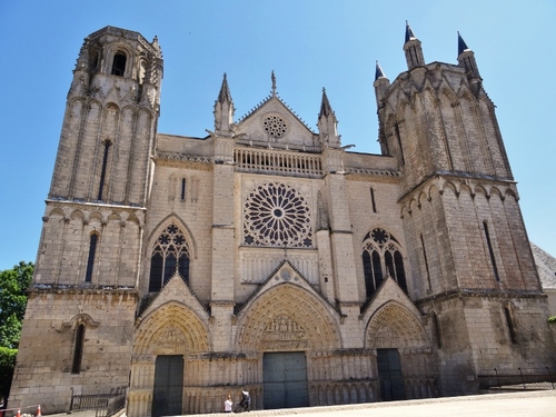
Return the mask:
<path id="1" fill-rule="evenodd" d="M 150 258 L 149 292 L 159 291 L 176 272 L 189 282 L 189 247 L 173 222 L 158 237 Z"/>

